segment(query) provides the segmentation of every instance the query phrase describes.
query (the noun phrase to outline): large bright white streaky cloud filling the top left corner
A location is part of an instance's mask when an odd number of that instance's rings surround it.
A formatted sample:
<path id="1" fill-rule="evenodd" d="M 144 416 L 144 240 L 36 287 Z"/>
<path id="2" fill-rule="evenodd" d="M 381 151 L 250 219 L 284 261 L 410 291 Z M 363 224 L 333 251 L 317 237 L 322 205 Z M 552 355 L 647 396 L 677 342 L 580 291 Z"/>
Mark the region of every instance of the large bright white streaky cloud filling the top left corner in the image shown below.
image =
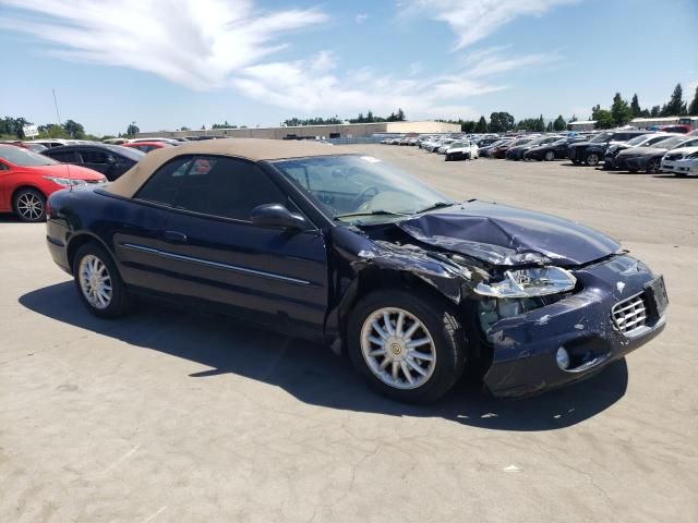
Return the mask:
<path id="1" fill-rule="evenodd" d="M 260 12 L 252 0 L 0 0 L 32 11 L 0 16 L 0 27 L 60 47 L 61 58 L 148 71 L 194 89 L 229 77 L 281 49 L 278 38 L 320 24 L 317 10 Z"/>

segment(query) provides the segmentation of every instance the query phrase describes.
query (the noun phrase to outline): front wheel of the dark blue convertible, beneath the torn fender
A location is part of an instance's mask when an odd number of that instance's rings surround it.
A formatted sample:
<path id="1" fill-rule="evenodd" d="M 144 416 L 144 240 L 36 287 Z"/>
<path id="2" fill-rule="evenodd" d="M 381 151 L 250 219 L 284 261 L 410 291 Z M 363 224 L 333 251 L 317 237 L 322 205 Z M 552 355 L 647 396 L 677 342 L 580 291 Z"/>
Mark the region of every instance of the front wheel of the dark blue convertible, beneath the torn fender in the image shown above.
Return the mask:
<path id="1" fill-rule="evenodd" d="M 351 312 L 349 356 L 378 392 L 425 403 L 461 376 L 466 337 L 452 307 L 405 291 L 369 294 Z"/>

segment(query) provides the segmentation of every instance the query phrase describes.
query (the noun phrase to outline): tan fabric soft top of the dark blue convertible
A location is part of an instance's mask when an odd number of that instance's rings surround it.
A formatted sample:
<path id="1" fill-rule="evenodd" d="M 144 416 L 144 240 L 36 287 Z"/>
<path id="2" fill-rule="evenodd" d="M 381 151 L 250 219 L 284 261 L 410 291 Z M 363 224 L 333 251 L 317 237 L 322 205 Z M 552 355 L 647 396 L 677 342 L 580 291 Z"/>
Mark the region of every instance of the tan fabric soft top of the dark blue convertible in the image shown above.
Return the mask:
<path id="1" fill-rule="evenodd" d="M 262 161 L 353 154 L 356 154 L 354 150 L 346 147 L 333 147 L 327 144 L 294 139 L 225 138 L 189 142 L 177 147 L 152 150 L 118 180 L 109 184 L 106 190 L 119 196 L 132 198 L 163 163 L 184 155 L 232 156 Z"/>

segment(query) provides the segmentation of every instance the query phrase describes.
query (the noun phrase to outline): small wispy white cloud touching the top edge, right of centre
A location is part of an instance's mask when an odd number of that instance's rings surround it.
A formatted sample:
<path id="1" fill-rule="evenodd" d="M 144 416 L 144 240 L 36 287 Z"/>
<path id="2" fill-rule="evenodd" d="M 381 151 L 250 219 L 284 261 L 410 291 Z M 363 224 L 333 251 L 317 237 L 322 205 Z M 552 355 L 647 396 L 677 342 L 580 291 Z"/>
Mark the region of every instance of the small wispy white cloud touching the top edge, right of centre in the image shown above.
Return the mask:
<path id="1" fill-rule="evenodd" d="M 551 9 L 581 0 L 409 0 L 404 16 L 426 15 L 447 23 L 462 49 L 520 16 L 540 16 Z M 404 3 L 404 2 L 402 2 Z"/>

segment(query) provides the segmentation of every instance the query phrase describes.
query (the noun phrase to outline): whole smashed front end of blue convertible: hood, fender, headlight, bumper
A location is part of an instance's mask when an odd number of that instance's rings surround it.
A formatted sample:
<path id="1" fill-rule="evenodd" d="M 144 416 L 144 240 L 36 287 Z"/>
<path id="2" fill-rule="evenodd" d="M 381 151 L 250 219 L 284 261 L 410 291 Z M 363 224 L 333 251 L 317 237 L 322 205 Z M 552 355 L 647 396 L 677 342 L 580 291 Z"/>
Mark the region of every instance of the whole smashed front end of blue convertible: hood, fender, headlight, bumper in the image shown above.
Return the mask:
<path id="1" fill-rule="evenodd" d="M 461 311 L 484 386 L 500 397 L 583 379 L 663 329 L 663 280 L 613 240 L 545 215 L 476 210 L 336 228 L 340 295 L 328 326 L 340 336 L 366 276 L 369 285 L 389 275 L 425 283 Z"/>

